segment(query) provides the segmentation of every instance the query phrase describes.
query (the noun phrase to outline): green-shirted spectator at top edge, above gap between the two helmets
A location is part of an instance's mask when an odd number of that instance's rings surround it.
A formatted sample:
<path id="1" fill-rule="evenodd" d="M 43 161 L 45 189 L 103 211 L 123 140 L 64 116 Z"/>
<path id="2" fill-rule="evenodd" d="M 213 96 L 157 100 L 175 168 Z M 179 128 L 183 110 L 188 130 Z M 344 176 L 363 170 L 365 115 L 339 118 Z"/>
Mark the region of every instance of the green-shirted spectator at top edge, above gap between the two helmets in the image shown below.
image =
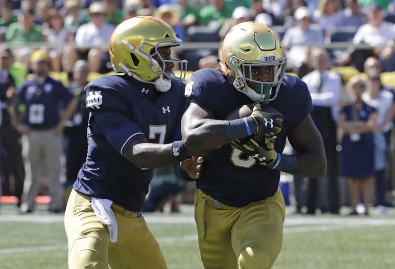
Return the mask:
<path id="1" fill-rule="evenodd" d="M 217 28 L 219 31 L 225 19 L 232 17 L 233 8 L 231 1 L 210 0 L 210 4 L 199 11 L 199 24 Z"/>

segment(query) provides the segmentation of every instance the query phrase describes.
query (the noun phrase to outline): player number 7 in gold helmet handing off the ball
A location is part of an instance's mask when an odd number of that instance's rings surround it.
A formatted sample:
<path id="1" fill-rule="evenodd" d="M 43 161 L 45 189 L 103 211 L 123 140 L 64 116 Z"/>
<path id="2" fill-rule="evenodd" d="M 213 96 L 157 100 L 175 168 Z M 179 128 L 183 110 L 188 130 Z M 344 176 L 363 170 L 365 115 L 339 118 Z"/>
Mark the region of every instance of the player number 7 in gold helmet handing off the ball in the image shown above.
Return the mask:
<path id="1" fill-rule="evenodd" d="M 181 169 L 180 161 L 188 159 L 180 129 L 190 103 L 182 82 L 186 61 L 170 56 L 180 44 L 161 20 L 126 20 L 109 48 L 113 69 L 123 75 L 85 86 L 88 151 L 65 212 L 70 269 L 167 268 L 141 209 L 152 168 Z M 195 157 L 183 163 L 193 178 L 199 167 Z"/>

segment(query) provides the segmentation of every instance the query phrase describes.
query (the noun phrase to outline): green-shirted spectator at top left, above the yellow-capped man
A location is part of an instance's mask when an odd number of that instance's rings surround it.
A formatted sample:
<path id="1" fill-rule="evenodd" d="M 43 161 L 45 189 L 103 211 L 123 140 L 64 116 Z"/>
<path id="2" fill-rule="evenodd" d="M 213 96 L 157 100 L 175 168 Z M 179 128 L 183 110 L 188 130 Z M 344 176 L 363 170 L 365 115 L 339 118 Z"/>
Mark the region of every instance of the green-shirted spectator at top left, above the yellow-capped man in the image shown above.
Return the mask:
<path id="1" fill-rule="evenodd" d="M 11 23 L 5 32 L 6 42 L 42 42 L 42 27 L 35 23 L 34 9 L 24 9 L 18 21 Z"/>

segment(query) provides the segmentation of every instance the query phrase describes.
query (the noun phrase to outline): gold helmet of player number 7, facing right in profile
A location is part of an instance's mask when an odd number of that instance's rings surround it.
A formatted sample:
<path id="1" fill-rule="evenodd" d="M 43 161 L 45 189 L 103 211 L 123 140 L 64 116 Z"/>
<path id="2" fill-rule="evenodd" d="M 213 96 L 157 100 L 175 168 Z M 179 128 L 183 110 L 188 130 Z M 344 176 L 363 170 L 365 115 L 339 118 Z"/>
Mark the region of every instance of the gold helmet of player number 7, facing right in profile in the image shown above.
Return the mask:
<path id="1" fill-rule="evenodd" d="M 146 83 L 155 84 L 158 91 L 165 92 L 171 86 L 168 77 L 185 80 L 185 60 L 164 60 L 158 53 L 159 47 L 178 46 L 182 43 L 178 34 L 164 21 L 151 16 L 128 19 L 115 29 L 110 40 L 110 59 L 113 70 Z M 158 63 L 153 56 L 162 59 Z M 165 73 L 166 62 L 180 64 L 180 75 Z M 166 78 L 165 78 L 166 77 Z"/>

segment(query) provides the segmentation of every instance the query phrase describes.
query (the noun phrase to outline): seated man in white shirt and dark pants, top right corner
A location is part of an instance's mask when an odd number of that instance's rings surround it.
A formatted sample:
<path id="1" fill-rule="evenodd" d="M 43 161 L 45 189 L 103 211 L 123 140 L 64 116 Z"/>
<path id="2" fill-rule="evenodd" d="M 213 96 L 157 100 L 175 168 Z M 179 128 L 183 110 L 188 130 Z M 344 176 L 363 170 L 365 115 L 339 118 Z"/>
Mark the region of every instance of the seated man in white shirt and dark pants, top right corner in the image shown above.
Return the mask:
<path id="1" fill-rule="evenodd" d="M 368 8 L 368 23 L 361 25 L 353 38 L 353 44 L 367 44 L 368 49 L 348 49 L 337 59 L 338 65 L 352 62 L 359 72 L 363 72 L 363 63 L 370 56 L 380 59 L 384 72 L 395 71 L 394 24 L 384 20 L 383 10 L 378 4 Z"/>

